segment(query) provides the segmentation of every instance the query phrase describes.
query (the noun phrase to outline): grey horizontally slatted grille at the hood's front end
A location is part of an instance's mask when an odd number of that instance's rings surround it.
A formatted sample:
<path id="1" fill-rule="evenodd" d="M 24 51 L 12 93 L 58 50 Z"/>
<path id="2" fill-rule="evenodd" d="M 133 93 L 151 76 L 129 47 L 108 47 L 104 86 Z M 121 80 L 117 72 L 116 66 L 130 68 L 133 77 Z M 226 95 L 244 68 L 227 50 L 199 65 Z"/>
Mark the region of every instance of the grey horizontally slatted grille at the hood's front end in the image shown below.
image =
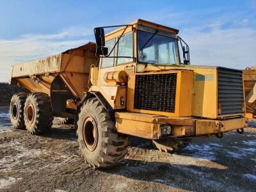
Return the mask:
<path id="1" fill-rule="evenodd" d="M 218 102 L 222 106 L 221 115 L 244 113 L 242 109 L 243 72 L 241 70 L 218 68 Z"/>

